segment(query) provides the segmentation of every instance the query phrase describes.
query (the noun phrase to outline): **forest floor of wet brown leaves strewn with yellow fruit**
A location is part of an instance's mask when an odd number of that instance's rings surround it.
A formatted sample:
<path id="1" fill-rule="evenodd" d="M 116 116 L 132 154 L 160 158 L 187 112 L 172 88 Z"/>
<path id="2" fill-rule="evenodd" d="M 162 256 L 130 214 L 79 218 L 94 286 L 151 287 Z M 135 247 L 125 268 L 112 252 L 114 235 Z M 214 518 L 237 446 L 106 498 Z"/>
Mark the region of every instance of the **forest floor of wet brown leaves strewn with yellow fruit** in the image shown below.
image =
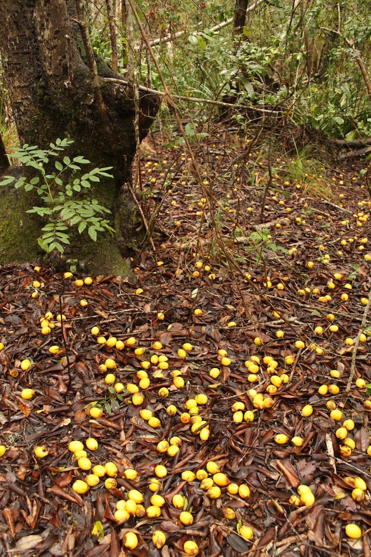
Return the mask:
<path id="1" fill-rule="evenodd" d="M 1 554 L 367 557 L 367 162 L 155 139 L 136 280 L 0 268 Z"/>

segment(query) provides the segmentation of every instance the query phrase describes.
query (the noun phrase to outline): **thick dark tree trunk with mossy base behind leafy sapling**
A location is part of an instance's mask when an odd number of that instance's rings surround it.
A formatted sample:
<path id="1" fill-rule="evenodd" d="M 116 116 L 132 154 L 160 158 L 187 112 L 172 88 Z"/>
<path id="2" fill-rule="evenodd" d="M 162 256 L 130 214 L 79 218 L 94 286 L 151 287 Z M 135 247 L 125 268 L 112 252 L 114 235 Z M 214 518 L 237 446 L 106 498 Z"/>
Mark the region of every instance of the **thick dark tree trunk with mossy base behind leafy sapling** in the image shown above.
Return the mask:
<path id="1" fill-rule="evenodd" d="M 114 180 L 101 181 L 91 197 L 110 209 L 116 235 L 101 233 L 96 243 L 85 233 L 73 236 L 66 257 L 80 260 L 91 273 L 125 274 L 120 248 L 132 237 L 134 209 L 123 184 L 136 151 L 135 101 L 124 84 L 103 81 L 115 74 L 99 59 L 97 91 L 73 0 L 0 0 L 0 21 L 4 82 L 20 143 L 47 148 L 70 136 L 75 143 L 69 157 L 83 155 L 92 167 L 113 167 Z M 158 97 L 141 96 L 140 140 L 158 108 Z M 2 261 L 39 260 L 40 223 L 25 213 L 33 204 L 31 194 L 9 186 L 0 190 Z"/>

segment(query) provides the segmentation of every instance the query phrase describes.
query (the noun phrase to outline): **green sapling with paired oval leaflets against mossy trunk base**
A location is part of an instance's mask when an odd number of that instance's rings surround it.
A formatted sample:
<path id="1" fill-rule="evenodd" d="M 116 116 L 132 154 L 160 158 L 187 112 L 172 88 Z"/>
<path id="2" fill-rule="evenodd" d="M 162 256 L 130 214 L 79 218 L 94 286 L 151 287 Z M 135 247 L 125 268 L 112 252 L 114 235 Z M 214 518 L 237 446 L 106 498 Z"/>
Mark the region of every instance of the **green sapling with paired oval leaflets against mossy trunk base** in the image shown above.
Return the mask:
<path id="1" fill-rule="evenodd" d="M 55 161 L 55 170 L 49 173 L 47 165 L 50 165 L 50 159 L 61 155 L 72 143 L 72 139 L 65 138 L 51 143 L 50 149 L 39 149 L 37 145 L 28 144 L 15 148 L 11 157 L 19 160 L 24 167 L 34 169 L 37 175 L 31 179 L 26 176 L 18 179 L 5 176 L 0 182 L 0 185 L 14 184 L 16 189 L 24 188 L 26 192 L 34 190 L 39 196 L 43 204 L 28 209 L 27 213 L 36 213 L 47 219 L 38 238 L 39 246 L 47 253 L 54 250 L 61 254 L 65 252 L 65 245 L 70 243 L 68 231 L 73 226 L 77 227 L 80 234 L 87 230 L 93 241 L 97 240 L 98 232 L 115 232 L 104 218 L 110 211 L 98 204 L 97 199 L 76 199 L 83 189 L 90 189 L 92 183 L 100 182 L 100 177 L 112 178 L 106 172 L 112 167 L 93 168 L 79 175 L 82 165 L 90 164 L 90 160 L 82 156 L 71 160 L 65 156 L 62 162 Z"/>

